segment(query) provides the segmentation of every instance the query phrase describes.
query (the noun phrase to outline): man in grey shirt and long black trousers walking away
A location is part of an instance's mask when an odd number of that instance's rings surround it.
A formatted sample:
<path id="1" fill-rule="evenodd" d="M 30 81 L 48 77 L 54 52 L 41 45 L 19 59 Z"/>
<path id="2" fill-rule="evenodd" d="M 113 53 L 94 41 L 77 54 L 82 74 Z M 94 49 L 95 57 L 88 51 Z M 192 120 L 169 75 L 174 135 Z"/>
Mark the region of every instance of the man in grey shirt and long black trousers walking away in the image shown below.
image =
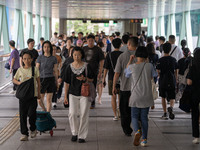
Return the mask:
<path id="1" fill-rule="evenodd" d="M 120 77 L 120 115 L 121 115 L 121 126 L 123 132 L 126 136 L 131 136 L 133 129 L 131 128 L 131 108 L 129 107 L 129 98 L 131 95 L 131 79 L 125 77 L 124 70 L 128 64 L 131 55 L 135 55 L 136 49 L 138 47 L 138 38 L 131 37 L 128 40 L 128 50 L 123 52 L 118 59 L 115 66 L 115 74 L 113 79 L 113 91 L 112 93 L 116 95 L 116 83 Z M 136 59 L 132 63 L 135 63 Z"/>

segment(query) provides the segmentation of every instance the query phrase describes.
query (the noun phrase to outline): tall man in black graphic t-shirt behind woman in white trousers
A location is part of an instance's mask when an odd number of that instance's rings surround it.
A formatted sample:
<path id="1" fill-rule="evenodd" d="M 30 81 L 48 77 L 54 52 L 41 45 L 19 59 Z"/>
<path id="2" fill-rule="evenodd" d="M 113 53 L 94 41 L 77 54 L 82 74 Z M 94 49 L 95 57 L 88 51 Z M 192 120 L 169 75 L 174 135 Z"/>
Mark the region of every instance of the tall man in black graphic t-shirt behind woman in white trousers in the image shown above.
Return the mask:
<path id="1" fill-rule="evenodd" d="M 92 70 L 94 71 L 94 86 L 96 88 L 97 77 L 100 78 L 103 70 L 104 54 L 101 48 L 94 45 L 94 35 L 89 35 L 87 37 L 88 46 L 83 48 L 85 52 L 85 60 L 90 64 Z M 95 100 L 91 104 L 91 109 L 95 107 Z"/>

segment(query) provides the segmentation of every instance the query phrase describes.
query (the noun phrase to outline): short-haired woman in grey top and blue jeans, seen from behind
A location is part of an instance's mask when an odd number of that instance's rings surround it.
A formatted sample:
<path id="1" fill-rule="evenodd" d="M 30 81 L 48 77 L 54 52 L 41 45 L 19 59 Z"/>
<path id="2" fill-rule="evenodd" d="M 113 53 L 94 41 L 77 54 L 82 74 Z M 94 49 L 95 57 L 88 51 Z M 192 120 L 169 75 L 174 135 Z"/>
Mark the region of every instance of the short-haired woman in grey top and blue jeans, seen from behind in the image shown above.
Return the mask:
<path id="1" fill-rule="evenodd" d="M 137 62 L 131 65 L 134 57 L 137 58 Z M 141 146 L 147 146 L 148 113 L 149 108 L 154 105 L 151 85 L 154 69 L 151 63 L 147 63 L 147 58 L 147 48 L 139 46 L 135 56 L 130 56 L 125 70 L 126 77 L 132 79 L 129 106 L 131 107 L 132 125 L 135 131 L 133 142 L 135 146 L 140 144 L 141 136 Z M 141 127 L 139 122 L 141 122 Z"/>

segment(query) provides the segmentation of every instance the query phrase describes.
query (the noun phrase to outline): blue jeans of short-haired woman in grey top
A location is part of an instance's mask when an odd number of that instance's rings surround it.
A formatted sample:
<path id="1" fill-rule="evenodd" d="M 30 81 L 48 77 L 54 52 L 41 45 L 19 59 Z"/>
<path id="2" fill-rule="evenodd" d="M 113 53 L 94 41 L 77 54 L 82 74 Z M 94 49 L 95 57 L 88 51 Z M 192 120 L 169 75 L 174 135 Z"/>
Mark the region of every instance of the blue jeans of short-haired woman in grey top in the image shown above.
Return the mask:
<path id="1" fill-rule="evenodd" d="M 141 121 L 142 139 L 147 139 L 148 113 L 149 113 L 149 107 L 147 108 L 131 107 L 131 118 L 134 131 L 137 132 L 140 129 L 139 121 Z"/>

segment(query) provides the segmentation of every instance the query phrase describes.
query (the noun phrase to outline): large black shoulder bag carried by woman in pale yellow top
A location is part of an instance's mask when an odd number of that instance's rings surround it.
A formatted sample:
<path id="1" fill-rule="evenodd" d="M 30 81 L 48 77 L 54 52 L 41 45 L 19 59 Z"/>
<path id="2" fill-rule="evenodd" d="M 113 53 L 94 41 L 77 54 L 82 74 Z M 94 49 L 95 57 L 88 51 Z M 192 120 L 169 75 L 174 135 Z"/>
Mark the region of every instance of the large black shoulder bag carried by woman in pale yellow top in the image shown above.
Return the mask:
<path id="1" fill-rule="evenodd" d="M 20 100 L 29 100 L 34 98 L 34 67 L 32 67 L 32 77 L 22 82 L 16 90 L 16 97 Z"/>

